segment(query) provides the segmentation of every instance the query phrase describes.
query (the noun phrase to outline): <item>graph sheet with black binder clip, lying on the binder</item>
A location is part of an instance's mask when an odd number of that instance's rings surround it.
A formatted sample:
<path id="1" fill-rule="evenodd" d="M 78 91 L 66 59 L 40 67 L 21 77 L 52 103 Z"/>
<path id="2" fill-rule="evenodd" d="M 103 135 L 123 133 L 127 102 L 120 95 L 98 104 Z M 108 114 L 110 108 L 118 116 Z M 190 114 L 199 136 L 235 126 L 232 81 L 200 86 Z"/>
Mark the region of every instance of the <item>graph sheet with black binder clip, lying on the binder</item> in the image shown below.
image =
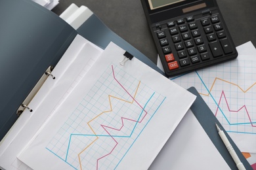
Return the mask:
<path id="1" fill-rule="evenodd" d="M 147 169 L 195 96 L 111 43 L 18 156 L 32 169 Z"/>

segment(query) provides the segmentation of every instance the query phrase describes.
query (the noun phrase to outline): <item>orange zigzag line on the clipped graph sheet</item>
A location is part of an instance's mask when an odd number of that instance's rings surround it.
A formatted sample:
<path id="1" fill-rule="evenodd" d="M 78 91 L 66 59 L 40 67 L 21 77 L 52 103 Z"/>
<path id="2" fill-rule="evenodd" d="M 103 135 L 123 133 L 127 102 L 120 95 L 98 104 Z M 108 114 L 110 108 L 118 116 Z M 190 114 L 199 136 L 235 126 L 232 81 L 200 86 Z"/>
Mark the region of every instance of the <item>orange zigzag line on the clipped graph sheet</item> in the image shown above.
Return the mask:
<path id="1" fill-rule="evenodd" d="M 82 169 L 82 164 L 81 164 L 81 158 L 80 158 L 80 155 L 85 152 L 85 150 L 87 150 L 87 148 L 89 148 L 89 146 L 91 146 L 93 143 L 96 142 L 96 140 L 98 139 L 98 136 L 96 135 L 95 131 L 93 130 L 93 127 L 91 127 L 90 123 L 93 122 L 93 120 L 95 120 L 96 118 L 98 118 L 99 116 L 101 116 L 102 114 L 106 113 L 106 112 L 112 112 L 112 103 L 111 103 L 111 98 L 114 98 L 114 99 L 118 99 L 118 100 L 121 100 L 121 101 L 124 101 L 124 102 L 127 102 L 127 103 L 131 103 L 133 104 L 133 102 L 135 101 L 135 96 L 137 95 L 137 92 L 139 90 L 139 86 L 140 86 L 140 81 L 139 81 L 139 84 L 137 86 L 137 89 L 135 91 L 135 94 L 133 96 L 133 100 L 132 101 L 127 101 L 125 99 L 121 99 L 119 97 L 115 97 L 113 95 L 108 95 L 108 101 L 110 103 L 110 110 L 106 110 L 104 112 L 101 112 L 100 114 L 98 114 L 97 116 L 95 116 L 95 118 L 93 118 L 92 120 L 90 120 L 89 122 L 87 122 L 88 126 L 90 127 L 90 129 L 93 131 L 93 134 L 95 135 L 96 139 L 91 142 L 88 146 L 86 146 L 79 154 L 78 154 L 78 159 L 79 159 L 79 165 L 80 165 L 80 169 Z"/>

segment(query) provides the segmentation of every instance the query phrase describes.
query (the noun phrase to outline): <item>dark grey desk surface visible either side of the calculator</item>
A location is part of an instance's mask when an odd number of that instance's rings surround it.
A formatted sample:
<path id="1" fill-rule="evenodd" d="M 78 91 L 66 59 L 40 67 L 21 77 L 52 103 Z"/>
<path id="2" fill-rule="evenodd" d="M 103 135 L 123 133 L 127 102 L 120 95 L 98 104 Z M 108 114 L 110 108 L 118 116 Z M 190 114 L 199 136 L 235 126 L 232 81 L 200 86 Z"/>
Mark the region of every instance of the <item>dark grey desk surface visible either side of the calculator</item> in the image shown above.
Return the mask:
<path id="1" fill-rule="evenodd" d="M 60 15 L 72 3 L 91 9 L 117 35 L 135 46 L 154 63 L 157 51 L 140 0 L 60 0 L 53 12 Z M 256 46 L 256 1 L 217 0 L 234 44 Z"/>

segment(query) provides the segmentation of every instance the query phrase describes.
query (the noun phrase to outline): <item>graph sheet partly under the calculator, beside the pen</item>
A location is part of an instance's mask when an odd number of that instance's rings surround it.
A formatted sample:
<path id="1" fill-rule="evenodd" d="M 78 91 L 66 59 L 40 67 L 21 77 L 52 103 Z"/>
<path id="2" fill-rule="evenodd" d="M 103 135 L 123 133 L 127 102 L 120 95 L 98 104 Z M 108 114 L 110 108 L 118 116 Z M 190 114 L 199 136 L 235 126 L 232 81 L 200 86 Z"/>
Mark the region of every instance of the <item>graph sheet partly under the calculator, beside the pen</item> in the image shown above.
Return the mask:
<path id="1" fill-rule="evenodd" d="M 256 153 L 254 51 L 253 45 L 245 44 L 238 48 L 237 59 L 171 78 L 184 88 L 194 86 L 238 148 L 251 153 Z"/>

